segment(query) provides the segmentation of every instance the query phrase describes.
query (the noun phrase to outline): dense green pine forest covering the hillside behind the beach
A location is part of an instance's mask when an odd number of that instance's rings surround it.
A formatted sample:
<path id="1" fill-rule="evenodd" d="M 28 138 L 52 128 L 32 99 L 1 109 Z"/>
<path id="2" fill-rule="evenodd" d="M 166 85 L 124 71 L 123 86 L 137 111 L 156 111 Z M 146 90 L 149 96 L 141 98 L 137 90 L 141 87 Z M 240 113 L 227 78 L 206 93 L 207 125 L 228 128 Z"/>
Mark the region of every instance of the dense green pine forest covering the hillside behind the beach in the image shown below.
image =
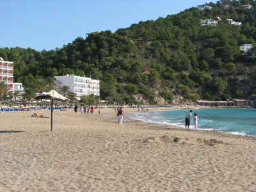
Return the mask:
<path id="1" fill-rule="evenodd" d="M 223 4 L 230 4 L 225 9 Z M 246 9 L 242 4 L 252 4 Z M 15 62 L 16 82 L 26 88 L 36 79 L 63 74 L 100 79 L 100 97 L 136 103 L 251 98 L 256 94 L 256 2 L 218 1 L 212 9 L 190 8 L 118 29 L 78 37 L 60 49 L 3 48 L 0 56 Z M 218 26 L 201 26 L 216 19 Z M 229 24 L 227 19 L 242 22 Z M 241 44 L 253 49 L 239 50 Z M 157 99 L 158 98 L 158 99 Z M 162 98 L 160 100 L 159 98 Z"/>

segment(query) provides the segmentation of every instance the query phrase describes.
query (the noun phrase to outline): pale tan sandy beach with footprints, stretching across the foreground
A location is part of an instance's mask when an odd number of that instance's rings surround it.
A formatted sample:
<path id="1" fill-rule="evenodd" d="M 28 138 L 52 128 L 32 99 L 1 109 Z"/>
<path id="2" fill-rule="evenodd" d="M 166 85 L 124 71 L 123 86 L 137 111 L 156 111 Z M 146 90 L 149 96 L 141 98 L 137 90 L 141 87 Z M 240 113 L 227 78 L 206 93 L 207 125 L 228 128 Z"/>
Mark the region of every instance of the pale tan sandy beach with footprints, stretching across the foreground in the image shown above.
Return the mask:
<path id="1" fill-rule="evenodd" d="M 256 191 L 253 137 L 119 125 L 113 109 L 55 110 L 49 131 L 33 113 L 0 114 L 0 191 Z"/>

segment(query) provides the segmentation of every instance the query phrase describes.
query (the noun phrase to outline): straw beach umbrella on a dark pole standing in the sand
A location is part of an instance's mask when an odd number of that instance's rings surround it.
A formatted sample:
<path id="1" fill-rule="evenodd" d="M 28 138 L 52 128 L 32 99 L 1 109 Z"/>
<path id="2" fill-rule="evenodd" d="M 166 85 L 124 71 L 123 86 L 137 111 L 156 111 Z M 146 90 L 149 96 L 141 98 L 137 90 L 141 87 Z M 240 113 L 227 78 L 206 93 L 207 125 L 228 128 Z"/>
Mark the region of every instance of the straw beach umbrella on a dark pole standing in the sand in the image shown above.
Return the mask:
<path id="1" fill-rule="evenodd" d="M 68 100 L 67 97 L 64 97 L 55 90 L 50 92 L 43 92 L 41 95 L 36 96 L 36 100 L 39 99 L 50 99 L 51 100 L 51 131 L 52 131 L 52 113 L 53 113 L 53 100 Z"/>

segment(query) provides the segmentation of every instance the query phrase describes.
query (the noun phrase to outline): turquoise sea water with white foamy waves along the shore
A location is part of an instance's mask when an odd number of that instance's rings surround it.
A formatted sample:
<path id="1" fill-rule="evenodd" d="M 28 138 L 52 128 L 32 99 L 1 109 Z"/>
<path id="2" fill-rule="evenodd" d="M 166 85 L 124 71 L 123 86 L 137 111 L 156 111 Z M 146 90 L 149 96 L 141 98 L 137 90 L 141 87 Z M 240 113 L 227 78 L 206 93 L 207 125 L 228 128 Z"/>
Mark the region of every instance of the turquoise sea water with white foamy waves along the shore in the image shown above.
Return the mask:
<path id="1" fill-rule="evenodd" d="M 149 110 L 129 115 L 132 119 L 155 124 L 185 127 L 185 115 L 190 109 Z M 191 129 L 195 129 L 194 113 L 198 116 L 198 129 L 218 130 L 232 134 L 256 136 L 256 109 L 193 109 L 190 120 Z"/>

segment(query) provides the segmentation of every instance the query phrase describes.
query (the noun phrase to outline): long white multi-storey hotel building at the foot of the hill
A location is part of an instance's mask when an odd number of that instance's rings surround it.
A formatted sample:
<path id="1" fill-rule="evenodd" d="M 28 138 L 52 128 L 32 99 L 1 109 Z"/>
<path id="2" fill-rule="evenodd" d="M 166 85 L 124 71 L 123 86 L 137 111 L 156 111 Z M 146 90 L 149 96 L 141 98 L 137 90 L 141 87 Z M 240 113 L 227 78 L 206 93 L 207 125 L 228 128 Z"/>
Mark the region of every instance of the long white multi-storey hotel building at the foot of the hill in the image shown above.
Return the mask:
<path id="1" fill-rule="evenodd" d="M 56 79 L 56 81 L 58 81 L 58 83 L 61 84 L 61 86 L 69 86 L 70 91 L 77 94 L 77 99 L 90 94 L 98 96 L 100 95 L 99 80 L 68 74 L 65 76 L 54 76 L 54 78 Z"/>

